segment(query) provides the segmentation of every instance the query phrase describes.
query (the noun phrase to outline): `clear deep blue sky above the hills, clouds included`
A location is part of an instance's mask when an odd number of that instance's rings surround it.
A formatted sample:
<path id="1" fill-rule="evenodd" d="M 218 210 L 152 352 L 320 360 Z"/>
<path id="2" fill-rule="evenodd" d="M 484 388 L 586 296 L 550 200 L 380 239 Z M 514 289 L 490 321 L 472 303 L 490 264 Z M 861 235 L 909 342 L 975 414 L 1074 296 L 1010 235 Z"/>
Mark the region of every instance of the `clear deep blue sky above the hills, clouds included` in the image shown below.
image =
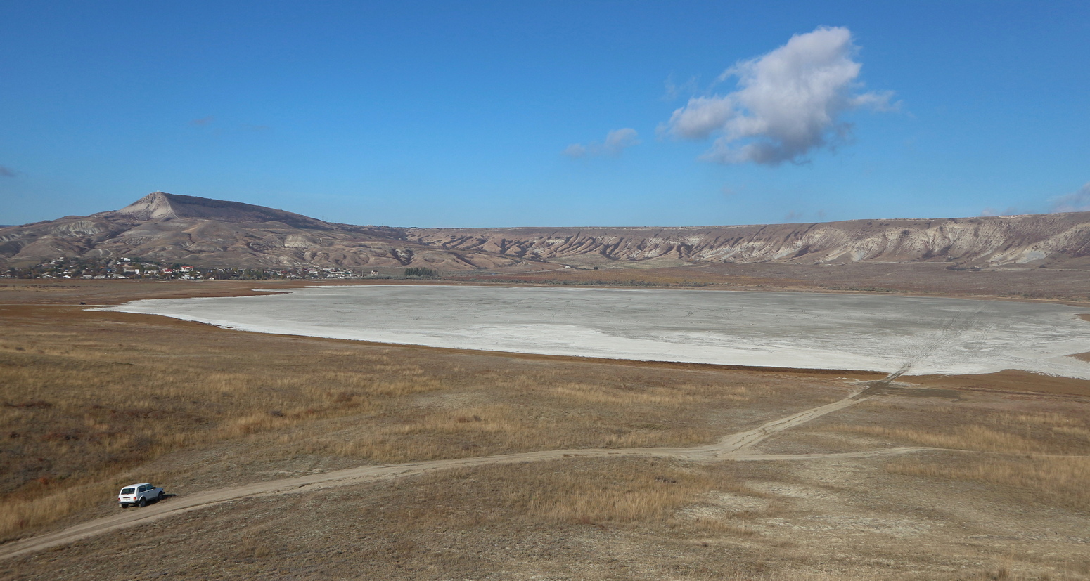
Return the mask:
<path id="1" fill-rule="evenodd" d="M 0 112 L 0 224 L 1090 209 L 1090 3 L 5 0 Z"/>

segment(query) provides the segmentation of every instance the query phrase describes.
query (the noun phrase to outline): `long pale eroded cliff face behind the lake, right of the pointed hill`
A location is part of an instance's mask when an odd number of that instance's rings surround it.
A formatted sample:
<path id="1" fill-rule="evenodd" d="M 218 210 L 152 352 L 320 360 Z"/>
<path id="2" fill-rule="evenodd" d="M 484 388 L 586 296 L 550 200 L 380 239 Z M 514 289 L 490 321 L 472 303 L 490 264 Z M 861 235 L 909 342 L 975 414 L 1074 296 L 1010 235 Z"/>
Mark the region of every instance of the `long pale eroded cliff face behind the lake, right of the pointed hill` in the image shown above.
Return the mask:
<path id="1" fill-rule="evenodd" d="M 1090 212 L 677 228 L 410 230 L 410 240 L 546 260 L 1090 263 Z"/>

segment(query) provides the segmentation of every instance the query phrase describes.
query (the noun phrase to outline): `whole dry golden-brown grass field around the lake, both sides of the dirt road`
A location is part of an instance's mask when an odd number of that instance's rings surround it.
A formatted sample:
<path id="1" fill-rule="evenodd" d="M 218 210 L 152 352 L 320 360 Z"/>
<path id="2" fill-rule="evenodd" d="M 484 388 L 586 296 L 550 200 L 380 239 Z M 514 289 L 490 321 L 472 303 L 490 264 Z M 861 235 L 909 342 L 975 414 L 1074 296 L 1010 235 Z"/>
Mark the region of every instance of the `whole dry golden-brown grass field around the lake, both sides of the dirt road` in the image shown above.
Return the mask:
<path id="1" fill-rule="evenodd" d="M 78 304 L 253 282 L 36 284 L 0 294 L 4 541 L 114 515 L 133 481 L 184 496 L 365 465 L 698 446 L 881 378 L 247 334 Z M 0 577 L 1090 578 L 1090 382 L 898 381 L 758 452 L 942 449 L 439 470 L 217 504 L 0 560 Z"/>

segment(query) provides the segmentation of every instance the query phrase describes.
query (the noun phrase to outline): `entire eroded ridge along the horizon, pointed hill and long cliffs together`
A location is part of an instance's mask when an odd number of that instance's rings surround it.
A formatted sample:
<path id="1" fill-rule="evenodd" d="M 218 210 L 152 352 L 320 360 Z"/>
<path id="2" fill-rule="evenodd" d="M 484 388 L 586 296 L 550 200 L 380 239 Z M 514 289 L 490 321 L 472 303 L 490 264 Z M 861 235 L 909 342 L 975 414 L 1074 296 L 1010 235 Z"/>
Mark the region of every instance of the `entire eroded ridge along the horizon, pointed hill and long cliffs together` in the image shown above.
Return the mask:
<path id="1" fill-rule="evenodd" d="M 130 257 L 207 267 L 494 269 L 715 262 L 1090 268 L 1090 212 L 701 227 L 353 226 L 225 200 L 149 194 L 121 210 L 0 228 L 0 264 Z"/>

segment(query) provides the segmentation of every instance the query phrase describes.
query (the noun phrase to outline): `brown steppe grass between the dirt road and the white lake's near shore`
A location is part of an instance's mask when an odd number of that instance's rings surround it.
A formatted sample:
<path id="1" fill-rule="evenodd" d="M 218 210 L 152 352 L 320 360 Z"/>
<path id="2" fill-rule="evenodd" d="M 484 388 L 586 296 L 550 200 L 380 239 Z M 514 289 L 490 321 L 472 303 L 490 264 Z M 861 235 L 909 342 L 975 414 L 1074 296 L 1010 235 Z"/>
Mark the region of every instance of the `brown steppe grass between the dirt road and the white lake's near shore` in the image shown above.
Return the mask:
<path id="1" fill-rule="evenodd" d="M 111 497 L 134 466 L 251 436 L 355 465 L 687 446 L 720 435 L 737 408 L 786 393 L 768 373 L 681 371 L 675 381 L 669 369 L 256 335 L 76 308 L 0 307 L 0 539 Z M 320 429 L 299 437 L 338 420 L 350 437 Z"/>

